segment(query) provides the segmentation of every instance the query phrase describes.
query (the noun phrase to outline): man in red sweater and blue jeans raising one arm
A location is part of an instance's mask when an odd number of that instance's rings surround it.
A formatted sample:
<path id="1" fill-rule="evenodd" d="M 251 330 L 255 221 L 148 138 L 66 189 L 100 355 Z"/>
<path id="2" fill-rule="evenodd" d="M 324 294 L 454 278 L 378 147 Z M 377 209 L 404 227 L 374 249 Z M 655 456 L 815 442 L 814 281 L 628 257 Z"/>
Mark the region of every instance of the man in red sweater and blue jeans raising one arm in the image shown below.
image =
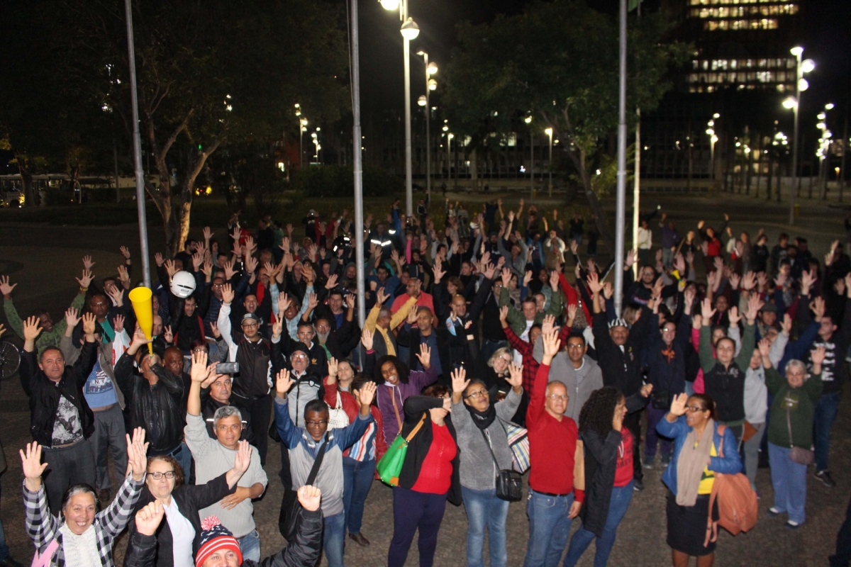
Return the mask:
<path id="1" fill-rule="evenodd" d="M 551 363 L 561 342 L 557 331 L 544 333 L 543 357 L 526 414 L 529 439 L 529 541 L 524 567 L 556 565 L 568 542 L 570 524 L 580 513 L 585 492 L 574 490 L 574 472 L 584 468 L 579 430 L 565 415 L 568 388 L 550 380 Z M 584 488 L 584 487 L 583 487 Z"/>

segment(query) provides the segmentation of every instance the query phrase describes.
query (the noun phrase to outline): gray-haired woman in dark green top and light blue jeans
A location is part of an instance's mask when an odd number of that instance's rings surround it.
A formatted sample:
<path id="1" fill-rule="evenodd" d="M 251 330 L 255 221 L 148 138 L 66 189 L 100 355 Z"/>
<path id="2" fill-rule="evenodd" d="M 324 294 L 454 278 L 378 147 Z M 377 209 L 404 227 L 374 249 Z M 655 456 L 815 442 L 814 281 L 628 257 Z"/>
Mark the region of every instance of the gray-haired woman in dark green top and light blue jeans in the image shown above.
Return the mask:
<path id="1" fill-rule="evenodd" d="M 786 377 L 774 368 L 766 368 L 765 385 L 774 395 L 768 417 L 768 461 L 774 506 L 768 513 L 788 513 L 786 526 L 796 529 L 805 519 L 807 503 L 807 463 L 797 457 L 793 448 L 809 451 L 813 446 L 813 415 L 821 395 L 821 363 L 825 348 L 810 353 L 813 367 L 807 377 L 807 366 L 801 360 L 786 363 Z M 793 460 L 795 457 L 795 460 Z"/>

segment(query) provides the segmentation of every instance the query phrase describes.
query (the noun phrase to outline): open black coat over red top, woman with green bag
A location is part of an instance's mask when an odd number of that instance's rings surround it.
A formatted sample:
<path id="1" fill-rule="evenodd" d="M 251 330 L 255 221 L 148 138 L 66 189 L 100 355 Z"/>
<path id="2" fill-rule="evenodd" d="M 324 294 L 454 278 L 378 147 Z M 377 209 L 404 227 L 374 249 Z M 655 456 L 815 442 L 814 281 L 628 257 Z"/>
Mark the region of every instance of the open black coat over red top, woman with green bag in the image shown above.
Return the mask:
<path id="1" fill-rule="evenodd" d="M 411 488 L 420 478 L 420 469 L 423 462 L 426 460 L 426 455 L 431 448 L 431 440 L 434 439 L 434 434 L 431 432 L 431 416 L 429 409 L 443 407 L 443 399 L 431 398 L 430 396 L 411 396 L 405 400 L 405 422 L 402 424 L 402 431 L 399 433 L 403 437 L 407 437 L 413 430 L 423 414 L 426 414 L 426 422 L 420 428 L 420 431 L 414 435 L 408 444 L 408 452 L 405 454 L 405 462 L 402 465 L 402 472 L 399 473 L 399 486 L 403 488 Z M 444 423 L 458 445 L 458 435 L 455 434 L 455 428 L 452 425 L 452 419 L 447 415 Z M 449 487 L 447 499 L 455 506 L 461 505 L 461 476 L 460 476 L 460 451 L 455 454 L 452 460 L 452 485 Z"/>

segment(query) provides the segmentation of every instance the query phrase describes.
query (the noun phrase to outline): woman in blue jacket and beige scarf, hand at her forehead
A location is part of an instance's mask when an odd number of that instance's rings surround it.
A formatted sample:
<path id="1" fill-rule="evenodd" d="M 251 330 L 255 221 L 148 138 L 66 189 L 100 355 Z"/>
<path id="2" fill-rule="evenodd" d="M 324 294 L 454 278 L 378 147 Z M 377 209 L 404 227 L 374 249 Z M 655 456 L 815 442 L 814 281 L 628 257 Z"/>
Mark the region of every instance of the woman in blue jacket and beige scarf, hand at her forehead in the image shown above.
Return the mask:
<path id="1" fill-rule="evenodd" d="M 706 394 L 677 394 L 671 411 L 656 432 L 674 439 L 671 464 L 662 473 L 668 494 L 668 545 L 674 567 L 686 567 L 691 556 L 698 567 L 715 560 L 717 502 L 709 519 L 709 495 L 715 473 L 735 474 L 742 468 L 738 442 L 731 428 L 716 421 L 715 402 Z"/>

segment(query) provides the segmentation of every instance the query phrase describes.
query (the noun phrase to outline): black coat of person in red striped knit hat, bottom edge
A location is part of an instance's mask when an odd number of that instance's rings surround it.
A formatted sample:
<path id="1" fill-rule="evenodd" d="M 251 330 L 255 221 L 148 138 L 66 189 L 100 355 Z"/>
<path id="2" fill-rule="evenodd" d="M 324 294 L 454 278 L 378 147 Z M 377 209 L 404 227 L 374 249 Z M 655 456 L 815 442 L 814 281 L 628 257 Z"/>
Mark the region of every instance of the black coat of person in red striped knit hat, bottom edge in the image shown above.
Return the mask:
<path id="1" fill-rule="evenodd" d="M 308 512 L 301 509 L 295 541 L 290 541 L 287 547 L 262 561 L 246 559 L 242 567 L 305 567 L 317 564 L 322 551 L 323 521 L 322 510 Z M 156 558 L 156 536 L 143 536 L 134 530 L 124 556 L 124 567 L 154 567 Z"/>

